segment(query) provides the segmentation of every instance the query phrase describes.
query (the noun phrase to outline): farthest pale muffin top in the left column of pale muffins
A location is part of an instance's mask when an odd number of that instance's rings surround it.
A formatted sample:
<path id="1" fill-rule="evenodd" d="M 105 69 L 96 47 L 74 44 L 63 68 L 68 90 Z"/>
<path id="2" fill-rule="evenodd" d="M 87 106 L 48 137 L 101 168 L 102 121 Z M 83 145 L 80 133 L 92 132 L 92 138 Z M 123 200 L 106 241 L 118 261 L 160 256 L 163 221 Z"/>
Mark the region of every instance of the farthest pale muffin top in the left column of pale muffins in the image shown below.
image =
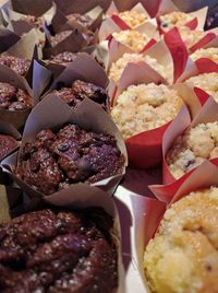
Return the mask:
<path id="1" fill-rule="evenodd" d="M 124 11 L 118 14 L 131 28 L 135 28 L 142 25 L 146 20 L 147 15 L 137 11 Z"/>

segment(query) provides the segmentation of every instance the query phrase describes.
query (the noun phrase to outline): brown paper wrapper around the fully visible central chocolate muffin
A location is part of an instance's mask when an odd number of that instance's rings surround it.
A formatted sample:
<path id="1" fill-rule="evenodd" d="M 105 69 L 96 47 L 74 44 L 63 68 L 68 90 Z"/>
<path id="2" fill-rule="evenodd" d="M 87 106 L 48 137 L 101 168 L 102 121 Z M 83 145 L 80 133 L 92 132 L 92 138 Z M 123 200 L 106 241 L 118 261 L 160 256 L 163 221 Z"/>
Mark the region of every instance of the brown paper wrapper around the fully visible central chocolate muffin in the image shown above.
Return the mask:
<path id="1" fill-rule="evenodd" d="M 52 112 L 50 109 L 52 109 Z M 62 114 L 61 116 L 60 113 Z M 96 103 L 89 101 L 88 98 L 85 99 L 75 112 L 72 112 L 72 109 L 65 103 L 63 103 L 56 96 L 48 96 L 47 98 L 45 98 L 32 110 L 26 121 L 25 129 L 23 132 L 22 145 L 24 145 L 25 142 L 33 141 L 40 130 L 60 127 L 66 122 L 76 124 L 83 129 L 88 129 L 96 132 L 105 132 L 116 137 L 118 148 L 120 149 L 125 160 L 123 165 L 123 173 L 94 184 L 95 186 L 112 195 L 117 185 L 125 173 L 125 166 L 128 164 L 126 150 L 121 133 L 118 131 L 116 125 L 110 120 L 109 116 L 105 113 L 105 110 L 102 110 L 98 105 L 96 105 Z M 9 175 L 31 197 L 43 198 L 43 194 L 34 190 L 31 186 L 22 181 L 13 173 L 15 171 L 17 156 L 19 152 L 3 160 L 3 169 L 9 173 Z M 72 197 L 74 192 L 76 195 L 77 187 L 80 186 L 82 186 L 84 190 L 86 190 L 87 184 L 80 183 L 72 185 Z M 60 192 L 56 192 L 55 195 L 61 196 L 62 192 L 63 190 Z"/>

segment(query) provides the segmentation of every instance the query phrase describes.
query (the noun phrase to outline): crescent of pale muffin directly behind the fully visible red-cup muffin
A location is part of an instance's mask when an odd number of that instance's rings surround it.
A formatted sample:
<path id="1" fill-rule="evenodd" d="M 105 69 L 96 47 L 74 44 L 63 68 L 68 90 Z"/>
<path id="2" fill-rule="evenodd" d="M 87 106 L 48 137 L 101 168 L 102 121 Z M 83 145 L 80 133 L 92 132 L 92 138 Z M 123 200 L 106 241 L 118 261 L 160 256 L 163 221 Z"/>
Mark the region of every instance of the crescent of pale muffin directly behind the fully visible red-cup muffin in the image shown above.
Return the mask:
<path id="1" fill-rule="evenodd" d="M 111 68 L 109 70 L 109 79 L 114 81 L 116 83 L 119 83 L 121 75 L 128 63 L 137 63 L 137 62 L 146 62 L 160 75 L 168 79 L 169 73 L 166 72 L 168 70 L 166 70 L 166 68 L 162 65 L 158 63 L 155 58 L 142 54 L 129 54 L 129 52 L 125 52 L 121 58 L 119 58 L 116 62 L 111 65 Z"/>

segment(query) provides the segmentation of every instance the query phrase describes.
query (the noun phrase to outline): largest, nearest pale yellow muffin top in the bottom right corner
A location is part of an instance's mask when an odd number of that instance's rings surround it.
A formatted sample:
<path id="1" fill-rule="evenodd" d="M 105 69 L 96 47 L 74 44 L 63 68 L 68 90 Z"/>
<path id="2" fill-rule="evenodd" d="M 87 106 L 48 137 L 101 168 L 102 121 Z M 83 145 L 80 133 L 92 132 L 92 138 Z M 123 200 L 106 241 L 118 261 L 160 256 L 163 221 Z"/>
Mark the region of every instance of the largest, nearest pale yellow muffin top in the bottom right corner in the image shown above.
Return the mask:
<path id="1" fill-rule="evenodd" d="M 218 292 L 218 188 L 191 192 L 167 210 L 146 247 L 155 293 Z"/>

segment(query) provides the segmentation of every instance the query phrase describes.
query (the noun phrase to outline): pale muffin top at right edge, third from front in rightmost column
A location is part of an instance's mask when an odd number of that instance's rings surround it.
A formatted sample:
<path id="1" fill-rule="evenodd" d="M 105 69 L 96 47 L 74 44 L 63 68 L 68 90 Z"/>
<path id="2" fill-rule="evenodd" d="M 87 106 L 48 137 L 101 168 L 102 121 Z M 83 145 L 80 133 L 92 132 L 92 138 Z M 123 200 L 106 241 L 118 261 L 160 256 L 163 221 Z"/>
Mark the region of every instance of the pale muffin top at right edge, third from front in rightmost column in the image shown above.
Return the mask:
<path id="1" fill-rule="evenodd" d="M 208 95 L 211 95 L 218 103 L 218 73 L 203 73 L 196 77 L 192 77 L 185 81 L 185 83 L 192 87 L 199 87 Z"/>

